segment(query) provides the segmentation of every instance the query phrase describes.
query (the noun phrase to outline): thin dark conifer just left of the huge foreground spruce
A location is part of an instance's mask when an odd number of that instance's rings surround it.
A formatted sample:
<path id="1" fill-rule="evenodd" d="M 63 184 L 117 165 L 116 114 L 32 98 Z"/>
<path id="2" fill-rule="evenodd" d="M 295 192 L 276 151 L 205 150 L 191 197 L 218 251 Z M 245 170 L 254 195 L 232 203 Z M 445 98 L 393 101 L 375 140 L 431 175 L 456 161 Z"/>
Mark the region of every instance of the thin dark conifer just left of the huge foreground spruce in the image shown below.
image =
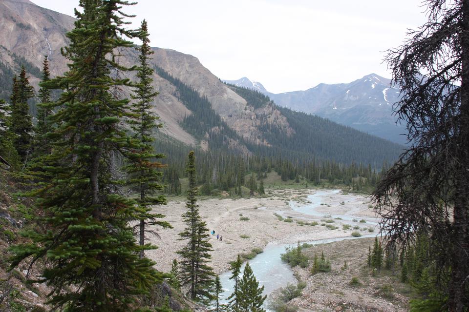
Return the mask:
<path id="1" fill-rule="evenodd" d="M 43 60 L 43 79 L 41 83 L 46 83 L 50 80 L 49 72 L 49 61 L 47 56 Z M 51 105 L 51 90 L 45 86 L 41 86 L 39 89 L 39 101 L 38 104 L 38 122 L 35 128 L 34 137 L 34 154 L 35 156 L 41 156 L 50 154 L 51 146 L 46 136 L 48 132 L 52 132 L 52 124 L 49 121 L 49 116 L 52 115 Z"/>

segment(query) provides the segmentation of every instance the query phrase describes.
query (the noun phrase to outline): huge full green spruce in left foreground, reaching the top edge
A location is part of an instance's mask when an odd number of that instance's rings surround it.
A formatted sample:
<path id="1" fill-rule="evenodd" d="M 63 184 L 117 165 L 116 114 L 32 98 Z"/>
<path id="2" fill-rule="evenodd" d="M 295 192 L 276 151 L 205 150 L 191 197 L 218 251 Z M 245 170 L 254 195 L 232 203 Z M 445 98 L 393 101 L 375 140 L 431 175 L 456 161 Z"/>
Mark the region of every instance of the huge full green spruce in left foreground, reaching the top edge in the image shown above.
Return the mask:
<path id="1" fill-rule="evenodd" d="M 56 165 L 44 168 L 53 178 L 33 193 L 48 231 L 28 232 L 33 243 L 12 248 L 11 267 L 43 259 L 40 280 L 51 289 L 48 302 L 69 312 L 130 311 L 134 295 L 163 278 L 153 262 L 139 257 L 129 222 L 142 210 L 116 192 L 123 182 L 110 161 L 136 147 L 123 127 L 123 117 L 131 117 L 129 100 L 109 91 L 130 84 L 111 75 L 126 70 L 115 62 L 115 51 L 133 46 L 122 37 L 133 36 L 123 28 L 127 4 L 80 1 L 83 12 L 75 11 L 75 29 L 63 50 L 69 71 L 43 83 L 65 89 L 51 117 L 58 125 L 49 136 Z"/>

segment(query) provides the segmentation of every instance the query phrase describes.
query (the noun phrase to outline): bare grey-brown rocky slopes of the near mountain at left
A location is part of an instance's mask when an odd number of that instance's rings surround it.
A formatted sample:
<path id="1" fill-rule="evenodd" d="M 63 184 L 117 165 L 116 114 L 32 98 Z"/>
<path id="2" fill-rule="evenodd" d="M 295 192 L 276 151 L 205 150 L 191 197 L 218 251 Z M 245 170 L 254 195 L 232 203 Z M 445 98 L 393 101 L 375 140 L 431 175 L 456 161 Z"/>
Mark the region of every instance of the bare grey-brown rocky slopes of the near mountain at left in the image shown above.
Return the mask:
<path id="1" fill-rule="evenodd" d="M 67 70 L 66 59 L 60 49 L 67 45 L 66 32 L 74 27 L 72 17 L 44 9 L 28 0 L 2 0 L 0 18 L 0 32 L 8 34 L 0 46 L 0 62 L 4 65 L 0 75 L 7 76 L 6 69 L 18 73 L 21 64 L 27 63 L 30 80 L 37 89 L 44 56 L 49 57 L 52 76 Z M 171 49 L 153 48 L 153 51 L 152 59 L 156 66 L 206 97 L 213 110 L 240 137 L 255 144 L 269 145 L 259 130 L 265 122 L 278 125 L 287 133 L 292 132 L 286 118 L 275 107 L 270 105 L 255 110 L 202 66 L 197 58 Z M 129 49 L 122 62 L 129 65 L 137 63 L 137 52 Z M 178 100 L 176 87 L 156 74 L 153 78 L 155 89 L 160 93 L 154 101 L 154 111 L 165 125 L 161 131 L 184 143 L 210 148 L 210 140 L 208 145 L 207 142 L 199 142 L 181 126 L 184 117 L 192 112 Z M 8 79 L 11 78 L 5 81 Z M 124 90 L 124 93 L 128 95 L 129 90 Z M 5 97 L 4 94 L 2 96 Z M 229 145 L 242 146 L 232 141 Z"/>

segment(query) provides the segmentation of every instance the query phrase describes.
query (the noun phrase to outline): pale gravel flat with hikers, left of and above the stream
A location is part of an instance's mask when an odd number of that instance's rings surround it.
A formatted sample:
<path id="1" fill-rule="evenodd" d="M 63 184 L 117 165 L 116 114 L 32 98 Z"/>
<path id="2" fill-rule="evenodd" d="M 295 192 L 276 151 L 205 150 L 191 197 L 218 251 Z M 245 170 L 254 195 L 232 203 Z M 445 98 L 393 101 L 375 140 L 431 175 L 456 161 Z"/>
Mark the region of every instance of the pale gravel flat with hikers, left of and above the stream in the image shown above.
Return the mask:
<path id="1" fill-rule="evenodd" d="M 237 254 L 249 253 L 253 248 L 264 248 L 269 242 L 295 243 L 298 240 L 311 241 L 323 238 L 351 236 L 353 229 L 342 230 L 342 220 L 334 220 L 336 230 L 329 230 L 325 226 L 301 225 L 296 223 L 304 216 L 292 210 L 288 201 L 297 200 L 307 202 L 306 195 L 314 194 L 315 189 L 307 190 L 277 190 L 270 192 L 264 198 L 241 199 L 208 199 L 199 201 L 199 211 L 207 222 L 210 231 L 215 230 L 215 236 L 210 237 L 213 245 L 212 267 L 216 273 L 229 270 L 229 262 L 233 261 Z M 353 212 L 357 218 L 374 217 L 373 211 L 368 207 L 369 199 L 363 195 L 338 193 L 325 198 L 321 202 L 327 205 L 320 206 L 318 211 L 324 215 Z M 343 204 L 341 204 L 343 203 Z M 262 208 L 262 207 L 265 207 Z M 156 261 L 158 270 L 169 272 L 171 262 L 178 259 L 175 253 L 180 250 L 185 242 L 178 240 L 185 225 L 181 215 L 186 211 L 185 201 L 171 201 L 168 205 L 155 207 L 154 212 L 166 215 L 166 220 L 174 229 L 159 230 L 160 238 L 150 237 L 152 243 L 159 248 L 147 251 L 147 255 Z M 291 216 L 293 222 L 278 220 L 274 215 L 276 211 L 283 211 L 283 215 Z M 248 217 L 243 221 L 241 217 Z M 313 218 L 314 219 L 314 218 Z M 303 220 L 304 221 L 304 220 Z M 370 234 L 366 223 L 361 224 L 362 234 Z M 377 229 L 375 229 L 377 233 Z M 223 236 L 223 241 L 216 239 L 216 234 Z M 241 237 L 242 236 L 242 237 Z M 246 238 L 243 238 L 246 237 Z"/>

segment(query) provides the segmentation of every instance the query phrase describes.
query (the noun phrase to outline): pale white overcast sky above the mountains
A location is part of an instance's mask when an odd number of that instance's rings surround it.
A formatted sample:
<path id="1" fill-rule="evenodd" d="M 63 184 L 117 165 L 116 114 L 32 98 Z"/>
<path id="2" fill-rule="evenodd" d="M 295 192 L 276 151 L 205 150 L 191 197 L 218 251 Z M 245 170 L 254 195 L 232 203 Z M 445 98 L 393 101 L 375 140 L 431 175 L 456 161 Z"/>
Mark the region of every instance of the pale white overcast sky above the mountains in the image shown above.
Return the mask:
<path id="1" fill-rule="evenodd" d="M 32 0 L 73 16 L 78 0 Z M 426 21 L 421 0 L 139 0 L 151 45 L 197 57 L 222 79 L 248 77 L 274 93 L 370 73 L 390 78 L 385 50 Z"/>

